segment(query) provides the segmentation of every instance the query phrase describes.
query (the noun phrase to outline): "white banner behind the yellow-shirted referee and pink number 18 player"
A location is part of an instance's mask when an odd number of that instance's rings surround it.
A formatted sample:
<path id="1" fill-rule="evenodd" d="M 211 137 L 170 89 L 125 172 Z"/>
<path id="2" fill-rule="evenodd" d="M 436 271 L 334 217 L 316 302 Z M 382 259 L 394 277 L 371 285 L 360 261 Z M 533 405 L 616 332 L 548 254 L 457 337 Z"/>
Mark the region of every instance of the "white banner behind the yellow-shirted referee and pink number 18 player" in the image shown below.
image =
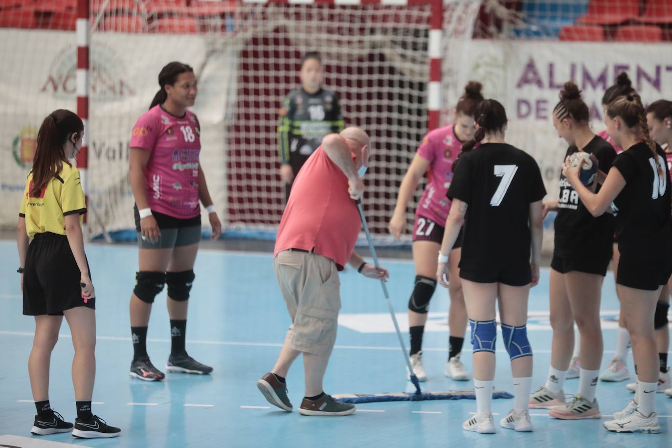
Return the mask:
<path id="1" fill-rule="evenodd" d="M 194 67 L 199 94 L 194 112 L 201 124 L 200 160 L 220 217 L 226 209 L 224 113 L 235 84 L 233 54 L 212 51 L 212 36 L 97 33 L 91 43 L 89 129 L 89 222 L 108 230 L 134 228 L 128 183 L 132 126 L 159 90 L 158 75 L 171 60 Z M 54 109 L 76 111 L 75 33 L 0 30 L 0 226 L 15 225 L 34 154 L 38 128 Z M 225 48 L 224 46 L 220 48 Z M 208 223 L 204 216 L 204 223 Z"/>

